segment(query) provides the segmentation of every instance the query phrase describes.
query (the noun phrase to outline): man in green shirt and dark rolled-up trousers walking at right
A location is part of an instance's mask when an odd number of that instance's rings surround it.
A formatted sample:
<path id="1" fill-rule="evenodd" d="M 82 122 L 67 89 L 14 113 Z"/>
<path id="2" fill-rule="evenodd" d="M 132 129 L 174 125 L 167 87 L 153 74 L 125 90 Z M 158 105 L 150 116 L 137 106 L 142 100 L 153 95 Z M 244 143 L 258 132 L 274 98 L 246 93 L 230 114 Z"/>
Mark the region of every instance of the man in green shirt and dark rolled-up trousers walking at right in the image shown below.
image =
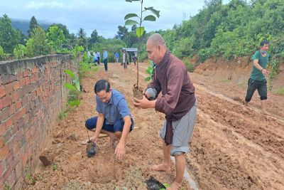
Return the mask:
<path id="1" fill-rule="evenodd" d="M 244 105 L 248 105 L 253 97 L 254 91 L 258 90 L 258 95 L 261 97 L 261 112 L 264 115 L 268 115 L 266 111 L 266 100 L 267 100 L 267 80 L 268 71 L 266 70 L 268 65 L 269 54 L 267 53 L 269 48 L 269 42 L 264 40 L 261 41 L 261 49 L 256 51 L 252 56 L 253 69 L 251 76 L 248 81 L 248 90 L 246 92 L 246 98 Z"/>

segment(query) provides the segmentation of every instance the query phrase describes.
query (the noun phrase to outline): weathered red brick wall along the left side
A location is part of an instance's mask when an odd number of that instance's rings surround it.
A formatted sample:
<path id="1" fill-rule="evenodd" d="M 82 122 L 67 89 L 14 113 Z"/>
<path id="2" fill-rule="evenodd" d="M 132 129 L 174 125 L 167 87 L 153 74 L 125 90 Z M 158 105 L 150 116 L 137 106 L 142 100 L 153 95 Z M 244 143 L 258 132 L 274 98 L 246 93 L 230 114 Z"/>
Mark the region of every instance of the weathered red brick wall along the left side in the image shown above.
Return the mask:
<path id="1" fill-rule="evenodd" d="M 79 57 L 77 58 L 79 59 Z M 21 189 L 67 102 L 70 55 L 0 62 L 0 189 Z"/>

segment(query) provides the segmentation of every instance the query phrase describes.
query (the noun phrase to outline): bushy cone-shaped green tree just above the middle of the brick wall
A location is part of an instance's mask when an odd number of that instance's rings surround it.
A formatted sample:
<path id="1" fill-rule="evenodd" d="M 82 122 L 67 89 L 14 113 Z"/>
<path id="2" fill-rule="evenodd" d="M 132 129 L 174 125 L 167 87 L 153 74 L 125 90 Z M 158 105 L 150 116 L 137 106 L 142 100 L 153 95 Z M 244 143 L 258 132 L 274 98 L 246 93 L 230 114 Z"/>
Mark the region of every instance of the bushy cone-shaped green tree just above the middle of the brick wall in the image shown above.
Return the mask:
<path id="1" fill-rule="evenodd" d="M 31 38 L 26 42 L 28 57 L 44 56 L 50 54 L 50 46 L 46 42 L 43 28 L 35 28 Z"/>

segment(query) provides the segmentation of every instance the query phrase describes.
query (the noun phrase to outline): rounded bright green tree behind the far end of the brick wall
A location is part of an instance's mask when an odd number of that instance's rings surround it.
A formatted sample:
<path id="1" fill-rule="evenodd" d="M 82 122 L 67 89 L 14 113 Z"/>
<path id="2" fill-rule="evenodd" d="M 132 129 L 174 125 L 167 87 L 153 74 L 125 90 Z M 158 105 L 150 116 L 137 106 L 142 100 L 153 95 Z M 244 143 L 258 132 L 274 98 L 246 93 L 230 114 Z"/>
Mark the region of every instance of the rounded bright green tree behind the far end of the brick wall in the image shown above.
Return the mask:
<path id="1" fill-rule="evenodd" d="M 62 44 L 65 43 L 63 31 L 58 26 L 51 26 L 46 33 L 48 44 L 56 52 L 62 49 Z"/>

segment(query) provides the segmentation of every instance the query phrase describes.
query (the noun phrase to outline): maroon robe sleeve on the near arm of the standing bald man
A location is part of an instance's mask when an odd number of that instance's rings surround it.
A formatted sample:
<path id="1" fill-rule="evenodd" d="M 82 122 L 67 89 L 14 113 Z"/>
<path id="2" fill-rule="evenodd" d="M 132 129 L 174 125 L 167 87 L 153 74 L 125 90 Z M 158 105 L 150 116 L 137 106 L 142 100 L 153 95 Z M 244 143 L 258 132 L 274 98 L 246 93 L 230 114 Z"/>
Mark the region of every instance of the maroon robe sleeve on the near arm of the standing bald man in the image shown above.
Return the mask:
<path id="1" fill-rule="evenodd" d="M 185 69 L 182 68 L 182 64 L 175 65 L 170 68 L 168 76 L 168 89 L 165 95 L 159 96 L 155 103 L 155 110 L 170 115 L 175 109 L 180 92 L 182 89 L 182 82 L 186 76 Z"/>

